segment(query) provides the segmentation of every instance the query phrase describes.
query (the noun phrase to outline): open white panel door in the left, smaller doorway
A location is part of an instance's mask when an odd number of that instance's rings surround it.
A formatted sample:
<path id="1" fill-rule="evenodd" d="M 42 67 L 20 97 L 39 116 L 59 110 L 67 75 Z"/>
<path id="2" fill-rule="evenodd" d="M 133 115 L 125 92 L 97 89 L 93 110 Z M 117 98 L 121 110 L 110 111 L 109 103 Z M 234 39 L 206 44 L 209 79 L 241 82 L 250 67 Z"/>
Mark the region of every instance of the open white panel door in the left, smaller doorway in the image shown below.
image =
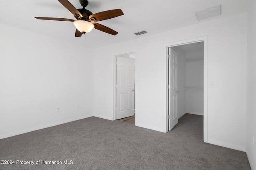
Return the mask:
<path id="1" fill-rule="evenodd" d="M 134 115 L 133 59 L 116 57 L 116 119 Z"/>

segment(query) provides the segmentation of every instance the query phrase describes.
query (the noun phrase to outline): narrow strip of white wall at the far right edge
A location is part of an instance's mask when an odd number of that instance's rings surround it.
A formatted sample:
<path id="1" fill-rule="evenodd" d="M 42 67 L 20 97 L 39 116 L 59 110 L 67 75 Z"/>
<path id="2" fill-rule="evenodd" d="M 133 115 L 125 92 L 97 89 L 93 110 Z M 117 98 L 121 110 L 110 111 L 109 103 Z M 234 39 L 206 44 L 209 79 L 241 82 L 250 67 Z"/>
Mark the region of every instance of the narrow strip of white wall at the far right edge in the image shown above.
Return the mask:
<path id="1" fill-rule="evenodd" d="M 252 143 L 252 134 L 256 139 L 256 1 L 251 0 L 248 9 L 248 45 L 247 45 L 247 142 L 248 159 L 256 170 L 256 143 Z"/>

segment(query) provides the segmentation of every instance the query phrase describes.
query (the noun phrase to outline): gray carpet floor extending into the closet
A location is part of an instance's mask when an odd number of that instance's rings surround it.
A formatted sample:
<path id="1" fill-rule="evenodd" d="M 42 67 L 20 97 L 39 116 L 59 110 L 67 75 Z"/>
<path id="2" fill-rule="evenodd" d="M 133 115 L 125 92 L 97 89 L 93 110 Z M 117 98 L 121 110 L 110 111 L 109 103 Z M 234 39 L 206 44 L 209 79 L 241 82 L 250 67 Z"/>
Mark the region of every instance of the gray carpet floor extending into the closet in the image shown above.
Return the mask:
<path id="1" fill-rule="evenodd" d="M 191 114 L 168 133 L 89 117 L 1 139 L 0 160 L 15 163 L 1 170 L 251 169 L 245 152 L 204 143 L 203 116 Z"/>

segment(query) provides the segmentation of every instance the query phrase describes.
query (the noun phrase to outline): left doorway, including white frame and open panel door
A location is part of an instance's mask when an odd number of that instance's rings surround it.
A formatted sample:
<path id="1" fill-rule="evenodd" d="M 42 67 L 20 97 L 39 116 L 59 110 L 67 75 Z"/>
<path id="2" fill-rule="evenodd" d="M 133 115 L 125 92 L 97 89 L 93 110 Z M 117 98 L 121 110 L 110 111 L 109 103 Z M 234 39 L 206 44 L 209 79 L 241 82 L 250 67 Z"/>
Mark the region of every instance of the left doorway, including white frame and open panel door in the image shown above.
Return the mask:
<path id="1" fill-rule="evenodd" d="M 136 57 L 137 51 L 116 53 L 114 57 L 113 120 L 135 117 L 136 125 Z M 136 113 L 136 114 L 135 114 Z M 134 120 L 134 118 L 133 118 Z"/>

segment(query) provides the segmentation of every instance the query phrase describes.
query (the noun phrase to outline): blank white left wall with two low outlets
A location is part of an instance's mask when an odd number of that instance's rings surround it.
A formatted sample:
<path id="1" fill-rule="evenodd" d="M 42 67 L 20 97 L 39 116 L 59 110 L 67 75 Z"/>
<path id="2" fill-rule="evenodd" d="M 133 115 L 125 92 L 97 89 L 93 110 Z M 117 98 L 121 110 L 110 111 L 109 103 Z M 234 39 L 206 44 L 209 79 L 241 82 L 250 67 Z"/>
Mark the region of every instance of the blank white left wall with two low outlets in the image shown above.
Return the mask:
<path id="1" fill-rule="evenodd" d="M 92 116 L 91 49 L 0 27 L 0 139 Z"/>

